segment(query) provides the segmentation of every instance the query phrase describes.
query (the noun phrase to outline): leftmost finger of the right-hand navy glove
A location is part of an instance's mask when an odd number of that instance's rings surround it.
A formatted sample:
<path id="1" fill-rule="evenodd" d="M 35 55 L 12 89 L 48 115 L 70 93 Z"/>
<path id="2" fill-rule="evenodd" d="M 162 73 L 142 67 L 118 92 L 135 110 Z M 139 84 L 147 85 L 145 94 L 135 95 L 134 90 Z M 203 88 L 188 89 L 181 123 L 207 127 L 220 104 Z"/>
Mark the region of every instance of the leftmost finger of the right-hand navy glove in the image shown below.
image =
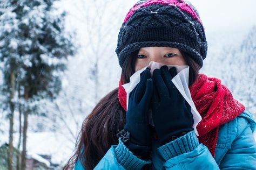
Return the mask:
<path id="1" fill-rule="evenodd" d="M 169 92 L 165 86 L 164 80 L 161 77 L 160 69 L 155 69 L 153 72 L 154 81 L 156 83 L 157 93 L 159 94 L 160 99 L 169 97 Z"/>

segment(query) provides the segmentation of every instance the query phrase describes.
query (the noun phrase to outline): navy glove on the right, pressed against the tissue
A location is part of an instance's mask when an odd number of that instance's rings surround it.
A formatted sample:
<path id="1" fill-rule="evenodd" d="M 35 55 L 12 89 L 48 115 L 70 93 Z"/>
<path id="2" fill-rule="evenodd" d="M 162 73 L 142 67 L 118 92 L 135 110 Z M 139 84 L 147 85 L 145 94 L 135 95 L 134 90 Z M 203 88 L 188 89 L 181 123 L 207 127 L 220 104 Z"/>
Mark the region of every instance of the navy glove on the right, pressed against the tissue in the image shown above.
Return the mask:
<path id="1" fill-rule="evenodd" d="M 153 72 L 152 118 L 162 145 L 174 136 L 193 130 L 191 107 L 171 81 L 175 75 L 175 67 L 169 71 L 167 66 L 162 66 Z"/>

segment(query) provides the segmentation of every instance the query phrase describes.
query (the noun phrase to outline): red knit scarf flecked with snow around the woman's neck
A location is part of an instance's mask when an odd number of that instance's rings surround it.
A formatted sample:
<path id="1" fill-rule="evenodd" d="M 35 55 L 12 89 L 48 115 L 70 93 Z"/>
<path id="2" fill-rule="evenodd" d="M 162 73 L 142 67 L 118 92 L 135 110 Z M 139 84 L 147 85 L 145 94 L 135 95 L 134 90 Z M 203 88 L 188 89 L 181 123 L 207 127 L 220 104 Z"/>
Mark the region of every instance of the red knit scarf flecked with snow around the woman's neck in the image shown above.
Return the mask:
<path id="1" fill-rule="evenodd" d="M 126 92 L 119 82 L 118 98 L 126 111 Z M 198 80 L 192 84 L 190 93 L 194 104 L 202 117 L 197 125 L 199 143 L 208 147 L 215 157 L 220 125 L 232 121 L 245 110 L 244 105 L 235 100 L 230 90 L 221 80 L 199 74 Z"/>

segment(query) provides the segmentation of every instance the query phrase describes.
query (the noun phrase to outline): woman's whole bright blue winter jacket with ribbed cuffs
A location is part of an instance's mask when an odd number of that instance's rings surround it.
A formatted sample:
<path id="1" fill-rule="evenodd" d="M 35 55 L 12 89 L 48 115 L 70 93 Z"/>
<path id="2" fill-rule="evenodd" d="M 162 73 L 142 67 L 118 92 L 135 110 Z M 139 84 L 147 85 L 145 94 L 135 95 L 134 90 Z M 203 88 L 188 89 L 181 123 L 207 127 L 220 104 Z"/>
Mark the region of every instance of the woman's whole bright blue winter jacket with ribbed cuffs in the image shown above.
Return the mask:
<path id="1" fill-rule="evenodd" d="M 220 126 L 215 158 L 208 148 L 199 144 L 194 131 L 160 146 L 152 141 L 151 160 L 139 159 L 119 140 L 99 161 L 95 169 L 256 169 L 256 143 L 253 131 L 256 123 L 250 112 Z M 84 169 L 79 161 L 75 170 Z"/>

